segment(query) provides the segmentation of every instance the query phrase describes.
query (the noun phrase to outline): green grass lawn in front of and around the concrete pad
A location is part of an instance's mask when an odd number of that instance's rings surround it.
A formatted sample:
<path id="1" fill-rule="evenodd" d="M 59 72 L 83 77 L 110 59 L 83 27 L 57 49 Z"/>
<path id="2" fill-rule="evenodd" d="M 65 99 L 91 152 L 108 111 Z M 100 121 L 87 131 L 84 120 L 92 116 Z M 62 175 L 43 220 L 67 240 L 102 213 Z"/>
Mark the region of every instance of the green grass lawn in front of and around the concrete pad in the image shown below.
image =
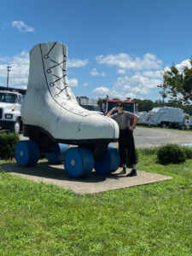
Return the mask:
<path id="1" fill-rule="evenodd" d="M 0 255 L 192 255 L 192 160 L 160 166 L 155 150 L 138 169 L 172 180 L 96 195 L 0 172 Z"/>

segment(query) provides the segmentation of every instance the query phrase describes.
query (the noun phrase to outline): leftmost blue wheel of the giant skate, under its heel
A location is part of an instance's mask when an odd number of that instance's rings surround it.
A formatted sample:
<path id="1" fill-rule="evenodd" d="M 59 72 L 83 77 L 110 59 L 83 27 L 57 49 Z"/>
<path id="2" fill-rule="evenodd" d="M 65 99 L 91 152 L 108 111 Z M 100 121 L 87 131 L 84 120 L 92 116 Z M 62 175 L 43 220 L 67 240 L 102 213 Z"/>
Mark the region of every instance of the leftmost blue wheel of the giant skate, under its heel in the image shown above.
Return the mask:
<path id="1" fill-rule="evenodd" d="M 15 147 L 15 159 L 18 166 L 35 166 L 40 157 L 38 143 L 34 141 L 20 141 Z"/>

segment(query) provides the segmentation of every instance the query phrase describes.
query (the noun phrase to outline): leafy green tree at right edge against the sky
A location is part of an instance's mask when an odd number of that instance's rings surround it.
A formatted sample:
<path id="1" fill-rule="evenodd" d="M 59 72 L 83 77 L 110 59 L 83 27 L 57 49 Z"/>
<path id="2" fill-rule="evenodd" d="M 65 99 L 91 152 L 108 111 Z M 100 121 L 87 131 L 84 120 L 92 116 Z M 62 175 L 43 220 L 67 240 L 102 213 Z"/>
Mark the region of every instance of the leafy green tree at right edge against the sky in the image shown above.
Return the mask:
<path id="1" fill-rule="evenodd" d="M 169 71 L 163 73 L 163 84 L 157 85 L 161 89 L 163 98 L 169 97 L 168 102 L 180 102 L 184 105 L 192 102 L 192 56 L 189 58 L 191 67 L 183 67 L 181 73 L 172 64 Z"/>

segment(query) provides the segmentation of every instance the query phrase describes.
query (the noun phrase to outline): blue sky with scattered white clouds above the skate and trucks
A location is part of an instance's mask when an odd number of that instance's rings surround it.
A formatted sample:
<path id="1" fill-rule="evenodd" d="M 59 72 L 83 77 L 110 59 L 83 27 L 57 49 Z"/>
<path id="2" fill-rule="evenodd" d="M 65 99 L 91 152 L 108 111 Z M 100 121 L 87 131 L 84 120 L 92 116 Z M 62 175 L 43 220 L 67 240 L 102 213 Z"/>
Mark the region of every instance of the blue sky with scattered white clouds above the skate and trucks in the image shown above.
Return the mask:
<path id="1" fill-rule="evenodd" d="M 36 44 L 67 45 L 75 96 L 159 100 L 172 63 L 192 55 L 191 0 L 9 0 L 0 15 L 0 85 L 26 88 Z"/>

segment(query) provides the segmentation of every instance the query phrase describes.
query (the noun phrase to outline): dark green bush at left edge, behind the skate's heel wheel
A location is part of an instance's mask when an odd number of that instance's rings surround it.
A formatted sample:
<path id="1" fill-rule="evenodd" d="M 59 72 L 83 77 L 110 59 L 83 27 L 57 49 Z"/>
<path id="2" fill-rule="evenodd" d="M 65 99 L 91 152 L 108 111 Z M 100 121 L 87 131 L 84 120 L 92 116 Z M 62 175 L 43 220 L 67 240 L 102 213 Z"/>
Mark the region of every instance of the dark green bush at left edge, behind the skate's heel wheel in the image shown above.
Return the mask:
<path id="1" fill-rule="evenodd" d="M 15 156 L 15 146 L 20 138 L 15 133 L 0 133 L 0 159 L 9 160 Z"/>

